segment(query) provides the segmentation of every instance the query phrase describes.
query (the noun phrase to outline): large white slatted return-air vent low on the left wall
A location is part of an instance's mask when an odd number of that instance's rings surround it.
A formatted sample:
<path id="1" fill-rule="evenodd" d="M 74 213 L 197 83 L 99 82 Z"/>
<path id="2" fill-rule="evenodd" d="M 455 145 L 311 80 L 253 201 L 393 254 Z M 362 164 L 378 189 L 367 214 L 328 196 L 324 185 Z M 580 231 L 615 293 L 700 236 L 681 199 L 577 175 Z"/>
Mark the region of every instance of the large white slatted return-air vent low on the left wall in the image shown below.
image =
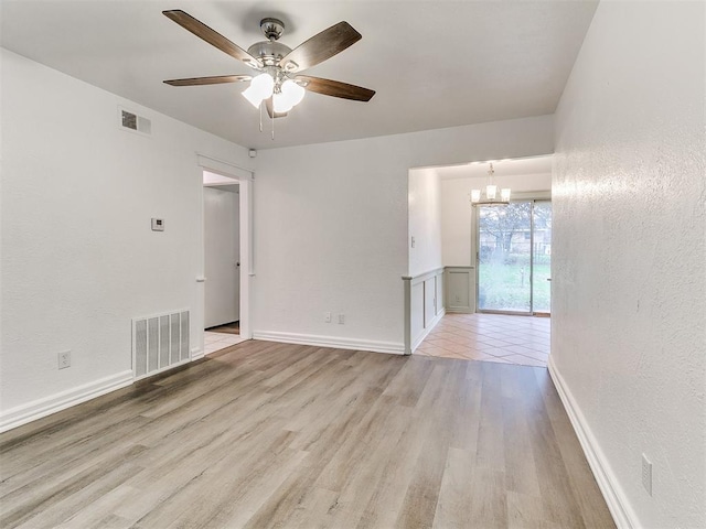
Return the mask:
<path id="1" fill-rule="evenodd" d="M 143 378 L 188 361 L 189 311 L 132 320 L 132 371 Z"/>

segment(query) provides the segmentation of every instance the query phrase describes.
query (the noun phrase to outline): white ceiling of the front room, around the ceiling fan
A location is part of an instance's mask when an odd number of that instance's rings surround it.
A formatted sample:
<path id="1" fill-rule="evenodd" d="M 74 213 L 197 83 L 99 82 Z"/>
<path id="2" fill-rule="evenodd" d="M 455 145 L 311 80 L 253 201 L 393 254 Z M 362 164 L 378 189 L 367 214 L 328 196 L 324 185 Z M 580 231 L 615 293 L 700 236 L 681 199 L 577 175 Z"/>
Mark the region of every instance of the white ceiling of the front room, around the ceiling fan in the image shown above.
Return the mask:
<path id="1" fill-rule="evenodd" d="M 318 143 L 553 114 L 598 0 L 1 0 L 2 46 L 240 145 Z M 308 94 L 276 139 L 243 84 L 163 79 L 252 71 L 161 14 L 183 9 L 247 48 L 259 20 L 296 47 L 341 20 L 363 39 L 307 71 L 377 91 L 365 104 Z"/>

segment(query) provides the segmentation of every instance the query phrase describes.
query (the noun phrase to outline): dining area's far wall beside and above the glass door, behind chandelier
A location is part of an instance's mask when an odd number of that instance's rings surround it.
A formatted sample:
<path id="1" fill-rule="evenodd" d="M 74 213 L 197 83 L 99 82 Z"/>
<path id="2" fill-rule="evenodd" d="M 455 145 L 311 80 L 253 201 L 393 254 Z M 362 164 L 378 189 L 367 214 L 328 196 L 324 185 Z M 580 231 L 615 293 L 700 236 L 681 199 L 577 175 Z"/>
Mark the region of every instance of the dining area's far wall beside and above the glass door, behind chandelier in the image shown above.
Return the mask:
<path id="1" fill-rule="evenodd" d="M 445 267 L 474 267 L 471 241 L 475 230 L 475 215 L 470 203 L 471 190 L 483 190 L 485 177 L 441 180 L 441 240 Z M 552 174 L 507 175 L 498 185 L 512 192 L 548 192 Z"/>

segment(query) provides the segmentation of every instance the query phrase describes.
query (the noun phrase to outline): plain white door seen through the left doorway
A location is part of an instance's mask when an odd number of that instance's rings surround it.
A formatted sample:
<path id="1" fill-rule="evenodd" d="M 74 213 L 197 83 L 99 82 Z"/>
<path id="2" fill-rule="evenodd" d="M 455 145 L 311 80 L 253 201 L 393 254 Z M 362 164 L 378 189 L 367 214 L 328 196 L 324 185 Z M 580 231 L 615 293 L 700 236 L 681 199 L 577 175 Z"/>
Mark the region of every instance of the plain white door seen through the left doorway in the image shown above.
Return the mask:
<path id="1" fill-rule="evenodd" d="M 226 188 L 228 191 L 224 191 Z M 237 322 L 240 317 L 240 230 L 237 190 L 237 185 L 203 188 L 205 328 Z"/>

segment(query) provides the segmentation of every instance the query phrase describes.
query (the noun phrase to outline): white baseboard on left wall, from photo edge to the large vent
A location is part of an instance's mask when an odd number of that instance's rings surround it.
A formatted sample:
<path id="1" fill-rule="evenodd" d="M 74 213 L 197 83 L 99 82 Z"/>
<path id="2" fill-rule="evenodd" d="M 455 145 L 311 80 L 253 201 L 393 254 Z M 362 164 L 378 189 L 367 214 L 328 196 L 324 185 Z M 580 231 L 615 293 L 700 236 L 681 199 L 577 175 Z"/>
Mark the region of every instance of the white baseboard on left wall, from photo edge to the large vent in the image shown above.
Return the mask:
<path id="1" fill-rule="evenodd" d="M 0 432 L 6 432 L 72 406 L 79 404 L 132 384 L 132 370 L 118 373 L 77 388 L 44 397 L 0 413 Z"/>

